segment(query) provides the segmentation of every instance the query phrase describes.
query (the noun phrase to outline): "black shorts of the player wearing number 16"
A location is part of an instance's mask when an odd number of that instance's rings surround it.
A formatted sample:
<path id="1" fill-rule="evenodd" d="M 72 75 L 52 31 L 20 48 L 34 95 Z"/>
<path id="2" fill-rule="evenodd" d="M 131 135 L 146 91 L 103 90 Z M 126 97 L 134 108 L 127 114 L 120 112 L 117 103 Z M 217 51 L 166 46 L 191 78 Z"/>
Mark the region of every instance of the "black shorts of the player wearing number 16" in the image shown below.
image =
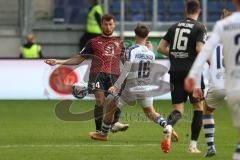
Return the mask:
<path id="1" fill-rule="evenodd" d="M 192 93 L 188 93 L 184 89 L 184 80 L 187 75 L 188 72 L 170 72 L 170 83 L 172 85 L 172 104 L 185 103 L 188 97 L 192 104 L 199 102 L 199 100 L 193 97 Z M 201 88 L 202 90 L 204 89 L 203 79 Z"/>

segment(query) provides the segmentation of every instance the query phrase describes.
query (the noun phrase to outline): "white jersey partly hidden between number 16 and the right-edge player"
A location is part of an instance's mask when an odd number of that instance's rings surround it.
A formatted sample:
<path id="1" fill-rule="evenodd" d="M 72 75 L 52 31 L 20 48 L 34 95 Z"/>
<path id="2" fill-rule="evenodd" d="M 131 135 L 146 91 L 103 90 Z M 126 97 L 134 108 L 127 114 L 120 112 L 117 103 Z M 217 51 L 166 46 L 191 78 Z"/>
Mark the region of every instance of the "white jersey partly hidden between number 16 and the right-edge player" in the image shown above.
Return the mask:
<path id="1" fill-rule="evenodd" d="M 210 58 L 209 88 L 222 90 L 225 88 L 225 67 L 223 59 L 223 45 L 218 45 Z"/>

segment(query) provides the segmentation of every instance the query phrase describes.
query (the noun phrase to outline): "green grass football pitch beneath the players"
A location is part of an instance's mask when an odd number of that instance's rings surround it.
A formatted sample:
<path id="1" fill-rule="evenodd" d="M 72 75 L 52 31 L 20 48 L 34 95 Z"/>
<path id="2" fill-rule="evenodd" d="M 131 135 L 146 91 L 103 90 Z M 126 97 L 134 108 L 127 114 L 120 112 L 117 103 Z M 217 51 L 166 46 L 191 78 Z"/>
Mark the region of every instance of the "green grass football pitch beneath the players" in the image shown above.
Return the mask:
<path id="1" fill-rule="evenodd" d="M 126 107 L 121 121 L 129 123 L 126 132 L 110 134 L 109 141 L 98 142 L 88 137 L 94 131 L 93 120 L 66 122 L 58 119 L 54 108 L 59 101 L 0 101 L 1 160 L 201 160 L 206 144 L 203 132 L 199 138 L 202 154 L 187 152 L 190 140 L 192 109 L 175 126 L 180 141 L 171 151 L 160 149 L 162 129 L 148 121 L 140 107 Z M 75 101 L 73 113 L 87 111 L 93 101 Z M 155 101 L 155 108 L 165 117 L 171 111 L 170 101 Z M 236 130 L 227 107 L 215 113 L 217 155 L 212 159 L 231 159 L 236 144 Z"/>

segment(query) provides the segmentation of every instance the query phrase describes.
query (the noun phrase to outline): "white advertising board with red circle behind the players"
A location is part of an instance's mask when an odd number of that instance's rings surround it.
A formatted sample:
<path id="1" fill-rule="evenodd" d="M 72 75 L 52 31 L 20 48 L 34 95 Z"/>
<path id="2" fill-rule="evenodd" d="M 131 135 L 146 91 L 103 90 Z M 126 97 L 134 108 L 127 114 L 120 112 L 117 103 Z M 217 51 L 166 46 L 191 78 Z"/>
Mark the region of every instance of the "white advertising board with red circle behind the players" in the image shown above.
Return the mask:
<path id="1" fill-rule="evenodd" d="M 0 99 L 74 99 L 72 84 L 88 81 L 90 63 L 50 67 L 43 60 L 1 60 Z M 168 60 L 157 63 L 169 66 Z M 168 74 L 162 80 L 169 81 Z M 91 98 L 91 95 L 85 97 Z M 156 98 L 170 99 L 170 94 Z"/>

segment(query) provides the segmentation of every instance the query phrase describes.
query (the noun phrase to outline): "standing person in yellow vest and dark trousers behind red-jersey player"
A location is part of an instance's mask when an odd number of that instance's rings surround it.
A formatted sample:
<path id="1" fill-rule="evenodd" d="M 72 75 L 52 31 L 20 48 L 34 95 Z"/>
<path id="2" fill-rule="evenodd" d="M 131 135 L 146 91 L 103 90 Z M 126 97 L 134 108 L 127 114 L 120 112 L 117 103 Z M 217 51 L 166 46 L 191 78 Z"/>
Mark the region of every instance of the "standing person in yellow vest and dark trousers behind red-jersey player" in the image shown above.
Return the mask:
<path id="1" fill-rule="evenodd" d="M 92 38 L 102 35 L 101 18 L 104 14 L 103 9 L 97 0 L 89 0 L 91 7 L 87 15 L 86 32 L 79 41 L 79 50 L 81 51 L 85 44 Z"/>

